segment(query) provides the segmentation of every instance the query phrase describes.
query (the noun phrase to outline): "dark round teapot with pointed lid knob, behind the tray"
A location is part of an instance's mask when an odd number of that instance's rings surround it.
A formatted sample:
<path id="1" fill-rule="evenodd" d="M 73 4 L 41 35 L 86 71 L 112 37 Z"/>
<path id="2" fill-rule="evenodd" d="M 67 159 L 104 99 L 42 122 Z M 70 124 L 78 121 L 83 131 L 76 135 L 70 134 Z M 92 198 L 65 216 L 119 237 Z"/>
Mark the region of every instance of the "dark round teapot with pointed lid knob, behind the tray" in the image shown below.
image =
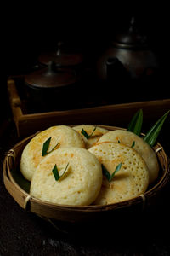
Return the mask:
<path id="1" fill-rule="evenodd" d="M 159 69 L 156 53 L 132 18 L 128 29 L 116 34 L 111 45 L 99 56 L 96 76 L 99 83 L 105 84 L 108 95 L 114 93 L 115 101 L 118 96 L 122 102 L 133 102 L 146 97 L 151 99 Z M 136 91 L 137 87 L 140 92 Z"/>

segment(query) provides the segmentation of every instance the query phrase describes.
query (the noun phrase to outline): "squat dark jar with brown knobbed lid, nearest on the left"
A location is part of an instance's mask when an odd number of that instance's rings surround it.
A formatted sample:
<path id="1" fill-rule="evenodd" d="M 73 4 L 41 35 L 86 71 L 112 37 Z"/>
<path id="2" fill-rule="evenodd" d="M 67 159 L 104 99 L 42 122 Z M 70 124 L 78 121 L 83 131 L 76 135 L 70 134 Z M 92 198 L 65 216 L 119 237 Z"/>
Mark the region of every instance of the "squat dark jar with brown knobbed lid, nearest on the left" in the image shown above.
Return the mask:
<path id="1" fill-rule="evenodd" d="M 74 107 L 73 102 L 77 102 L 77 82 L 74 71 L 56 67 L 53 61 L 25 77 L 29 101 L 34 108 L 42 110 Z"/>

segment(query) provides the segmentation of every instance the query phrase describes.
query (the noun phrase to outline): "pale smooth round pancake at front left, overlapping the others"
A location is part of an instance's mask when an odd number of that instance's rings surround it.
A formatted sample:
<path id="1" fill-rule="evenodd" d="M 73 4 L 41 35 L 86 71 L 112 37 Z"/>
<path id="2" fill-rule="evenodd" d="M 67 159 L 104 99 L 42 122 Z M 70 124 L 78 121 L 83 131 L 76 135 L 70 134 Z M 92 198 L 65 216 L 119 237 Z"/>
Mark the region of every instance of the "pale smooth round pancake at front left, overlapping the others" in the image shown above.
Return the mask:
<path id="1" fill-rule="evenodd" d="M 58 181 L 54 165 L 65 175 Z M 41 161 L 31 180 L 31 195 L 63 205 L 89 205 L 99 195 L 102 169 L 99 160 L 84 148 L 59 148 Z"/>

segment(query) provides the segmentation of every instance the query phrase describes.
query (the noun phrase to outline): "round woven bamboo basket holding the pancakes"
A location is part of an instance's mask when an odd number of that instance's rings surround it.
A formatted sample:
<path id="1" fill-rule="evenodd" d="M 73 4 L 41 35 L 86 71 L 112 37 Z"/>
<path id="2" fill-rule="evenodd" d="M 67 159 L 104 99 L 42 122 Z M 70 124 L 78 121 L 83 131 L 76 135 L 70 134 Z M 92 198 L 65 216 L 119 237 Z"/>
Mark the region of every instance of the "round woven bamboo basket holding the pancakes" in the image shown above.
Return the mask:
<path id="1" fill-rule="evenodd" d="M 108 130 L 115 130 L 117 127 L 99 125 Z M 118 128 L 121 129 L 121 128 Z M 8 193 L 12 195 L 20 207 L 26 211 L 34 212 L 38 216 L 49 221 L 55 220 L 57 222 L 80 224 L 80 223 L 98 223 L 103 219 L 113 219 L 113 216 L 124 212 L 141 212 L 144 208 L 156 204 L 157 198 L 160 195 L 161 189 L 164 188 L 170 177 L 169 160 L 163 147 L 157 143 L 154 149 L 160 164 L 159 177 L 156 182 L 152 184 L 144 195 L 139 195 L 128 201 L 123 201 L 106 206 L 66 206 L 48 203 L 46 201 L 38 200 L 29 195 L 30 183 L 22 177 L 20 173 L 20 156 L 26 144 L 32 137 L 27 137 L 20 143 L 17 143 L 14 148 L 11 148 L 6 155 L 3 162 L 3 180 Z"/>

